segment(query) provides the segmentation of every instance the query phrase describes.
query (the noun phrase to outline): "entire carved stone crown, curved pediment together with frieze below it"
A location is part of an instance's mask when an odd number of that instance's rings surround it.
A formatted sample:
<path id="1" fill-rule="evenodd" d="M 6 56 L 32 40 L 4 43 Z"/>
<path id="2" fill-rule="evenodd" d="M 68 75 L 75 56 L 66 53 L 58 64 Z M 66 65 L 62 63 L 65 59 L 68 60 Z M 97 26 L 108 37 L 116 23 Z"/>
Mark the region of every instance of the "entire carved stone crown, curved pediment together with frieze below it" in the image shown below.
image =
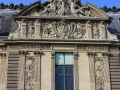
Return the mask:
<path id="1" fill-rule="evenodd" d="M 35 2 L 14 18 L 19 27 L 9 39 L 118 40 L 107 30 L 105 12 L 79 0 Z"/>

